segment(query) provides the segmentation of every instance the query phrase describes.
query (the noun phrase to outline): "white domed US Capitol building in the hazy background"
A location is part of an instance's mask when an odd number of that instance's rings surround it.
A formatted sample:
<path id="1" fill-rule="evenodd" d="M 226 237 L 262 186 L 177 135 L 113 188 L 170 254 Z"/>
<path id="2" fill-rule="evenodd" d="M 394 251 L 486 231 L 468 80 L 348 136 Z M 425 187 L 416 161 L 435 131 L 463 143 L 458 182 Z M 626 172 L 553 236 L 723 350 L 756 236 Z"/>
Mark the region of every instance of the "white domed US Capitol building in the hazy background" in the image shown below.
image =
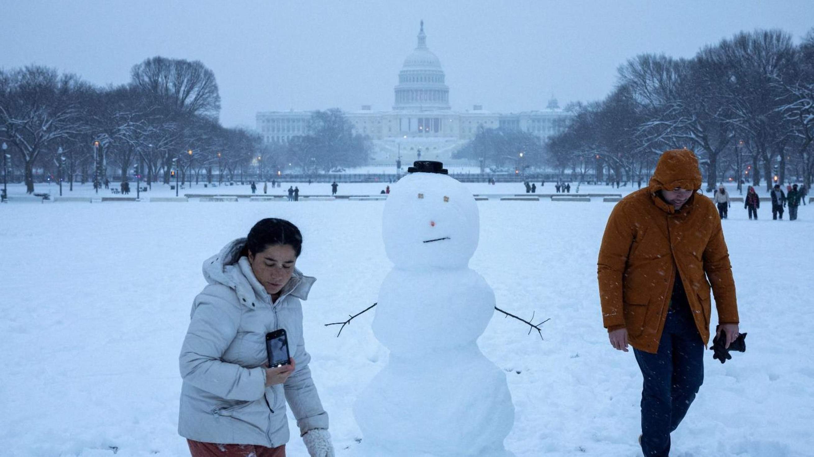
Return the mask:
<path id="1" fill-rule="evenodd" d="M 396 159 L 440 160 L 449 165 L 473 165 L 468 159 L 452 159 L 453 154 L 475 138 L 478 128 L 514 128 L 545 140 L 562 132 L 571 113 L 562 111 L 556 99 L 541 111 L 492 113 L 482 106 L 453 111 L 449 106 L 449 86 L 445 84 L 440 60 L 427 48 L 424 22 L 418 32 L 418 46 L 407 56 L 399 72 L 392 111 L 345 111 L 356 133 L 373 143 L 370 165 L 393 166 Z M 256 115 L 257 132 L 266 143 L 286 143 L 307 133 L 312 111 L 262 111 Z"/>

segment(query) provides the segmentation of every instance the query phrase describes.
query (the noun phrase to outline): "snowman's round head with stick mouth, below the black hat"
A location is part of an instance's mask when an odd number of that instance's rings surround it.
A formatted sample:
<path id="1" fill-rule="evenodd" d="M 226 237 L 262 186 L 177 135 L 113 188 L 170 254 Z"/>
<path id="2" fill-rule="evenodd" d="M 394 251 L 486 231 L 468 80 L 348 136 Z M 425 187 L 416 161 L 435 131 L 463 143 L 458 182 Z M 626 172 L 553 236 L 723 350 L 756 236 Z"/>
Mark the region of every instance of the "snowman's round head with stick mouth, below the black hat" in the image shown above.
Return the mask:
<path id="1" fill-rule="evenodd" d="M 466 268 L 478 247 L 479 229 L 475 198 L 443 174 L 401 178 L 384 204 L 384 249 L 400 268 Z"/>

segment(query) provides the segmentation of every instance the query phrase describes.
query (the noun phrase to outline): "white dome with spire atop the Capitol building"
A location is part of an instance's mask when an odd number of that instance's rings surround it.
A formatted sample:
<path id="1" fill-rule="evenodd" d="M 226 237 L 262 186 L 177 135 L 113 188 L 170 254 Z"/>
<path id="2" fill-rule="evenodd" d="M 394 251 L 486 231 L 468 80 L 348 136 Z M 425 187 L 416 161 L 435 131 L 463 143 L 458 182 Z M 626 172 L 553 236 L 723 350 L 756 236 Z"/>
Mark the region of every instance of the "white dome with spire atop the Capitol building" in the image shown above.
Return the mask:
<path id="1" fill-rule="evenodd" d="M 427 48 L 424 21 L 418 32 L 418 46 L 407 56 L 399 72 L 394 110 L 449 110 L 449 87 L 444 84 L 441 61 Z"/>

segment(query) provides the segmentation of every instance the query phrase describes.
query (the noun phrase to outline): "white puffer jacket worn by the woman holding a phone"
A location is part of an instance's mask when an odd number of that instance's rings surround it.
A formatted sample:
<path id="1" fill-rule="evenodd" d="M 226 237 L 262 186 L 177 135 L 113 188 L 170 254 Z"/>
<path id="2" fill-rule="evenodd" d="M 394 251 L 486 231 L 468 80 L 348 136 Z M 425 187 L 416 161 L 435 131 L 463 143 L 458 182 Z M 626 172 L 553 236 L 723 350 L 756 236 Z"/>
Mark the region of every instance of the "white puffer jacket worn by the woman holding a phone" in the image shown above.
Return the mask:
<path id="1" fill-rule="evenodd" d="M 300 434 L 328 428 L 308 366 L 300 304 L 316 279 L 295 270 L 272 304 L 240 257 L 245 244 L 239 238 L 204 262 L 209 285 L 195 297 L 180 356 L 178 433 L 199 442 L 277 447 L 289 438 L 286 401 Z M 285 385 L 265 387 L 265 334 L 276 329 L 286 329 L 296 370 Z"/>

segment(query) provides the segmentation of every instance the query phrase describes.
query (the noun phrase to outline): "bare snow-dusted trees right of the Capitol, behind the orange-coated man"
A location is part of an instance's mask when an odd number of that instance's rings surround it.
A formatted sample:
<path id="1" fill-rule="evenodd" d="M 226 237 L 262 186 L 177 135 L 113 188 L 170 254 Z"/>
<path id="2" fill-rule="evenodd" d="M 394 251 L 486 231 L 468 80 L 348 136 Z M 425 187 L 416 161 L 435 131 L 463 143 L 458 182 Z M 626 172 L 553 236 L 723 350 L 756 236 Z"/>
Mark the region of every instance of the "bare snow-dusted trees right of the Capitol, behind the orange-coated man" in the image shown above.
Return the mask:
<path id="1" fill-rule="evenodd" d="M 767 189 L 814 174 L 814 28 L 737 33 L 691 59 L 640 54 L 602 101 L 575 103 L 546 145 L 549 166 L 596 181 L 647 179 L 668 149 L 695 150 L 707 189 L 731 178 Z"/>

